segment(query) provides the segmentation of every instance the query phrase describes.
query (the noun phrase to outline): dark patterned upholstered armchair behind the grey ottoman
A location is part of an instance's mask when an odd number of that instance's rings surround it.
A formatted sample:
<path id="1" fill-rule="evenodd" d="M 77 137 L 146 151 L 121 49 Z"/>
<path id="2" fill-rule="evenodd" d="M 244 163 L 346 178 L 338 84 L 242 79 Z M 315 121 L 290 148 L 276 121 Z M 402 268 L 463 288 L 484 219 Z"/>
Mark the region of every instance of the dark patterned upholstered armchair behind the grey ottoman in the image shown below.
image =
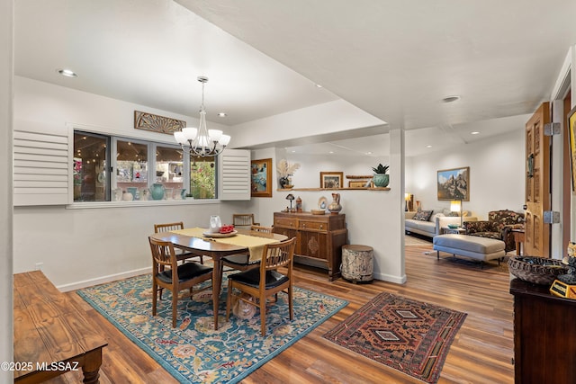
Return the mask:
<path id="1" fill-rule="evenodd" d="M 524 228 L 524 213 L 513 210 L 491 210 L 488 220 L 464 221 L 466 235 L 490 237 L 506 243 L 505 251 L 516 249 L 512 229 Z"/>

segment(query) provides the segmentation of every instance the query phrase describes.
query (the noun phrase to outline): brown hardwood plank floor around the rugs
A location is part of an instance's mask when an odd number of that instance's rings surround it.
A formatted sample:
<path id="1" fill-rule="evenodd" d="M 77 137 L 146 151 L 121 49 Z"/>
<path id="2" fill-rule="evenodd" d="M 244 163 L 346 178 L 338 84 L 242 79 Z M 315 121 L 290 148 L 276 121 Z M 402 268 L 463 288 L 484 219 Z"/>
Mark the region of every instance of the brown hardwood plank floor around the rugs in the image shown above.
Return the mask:
<path id="1" fill-rule="evenodd" d="M 296 285 L 347 299 L 349 304 L 242 382 L 421 383 L 322 338 L 366 301 L 388 291 L 468 314 L 450 348 L 439 383 L 513 383 L 513 298 L 509 294 L 507 264 L 499 266 L 492 261 L 481 269 L 478 263 L 455 260 L 447 254 L 441 254 L 437 261 L 431 248 L 406 247 L 408 281 L 403 285 L 385 281 L 352 284 L 342 279 L 330 282 L 325 272 L 297 266 Z M 428 255 L 426 251 L 430 251 Z M 176 382 L 76 293 L 68 294 L 76 305 L 88 311 L 94 327 L 108 339 L 108 347 L 103 350 L 101 383 Z M 69 372 L 49 383 L 81 380 L 79 372 Z"/>

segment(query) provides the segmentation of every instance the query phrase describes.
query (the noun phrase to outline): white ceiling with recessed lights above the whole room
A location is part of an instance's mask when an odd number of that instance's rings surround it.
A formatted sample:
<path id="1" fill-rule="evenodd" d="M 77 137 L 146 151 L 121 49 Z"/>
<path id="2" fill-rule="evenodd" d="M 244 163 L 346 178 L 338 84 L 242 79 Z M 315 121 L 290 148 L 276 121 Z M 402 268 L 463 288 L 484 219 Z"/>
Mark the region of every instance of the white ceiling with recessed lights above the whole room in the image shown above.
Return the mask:
<path id="1" fill-rule="evenodd" d="M 208 76 L 209 120 L 232 126 L 342 98 L 438 147 L 523 127 L 576 43 L 573 0 L 178 3 L 17 0 L 15 73 L 185 115 Z"/>

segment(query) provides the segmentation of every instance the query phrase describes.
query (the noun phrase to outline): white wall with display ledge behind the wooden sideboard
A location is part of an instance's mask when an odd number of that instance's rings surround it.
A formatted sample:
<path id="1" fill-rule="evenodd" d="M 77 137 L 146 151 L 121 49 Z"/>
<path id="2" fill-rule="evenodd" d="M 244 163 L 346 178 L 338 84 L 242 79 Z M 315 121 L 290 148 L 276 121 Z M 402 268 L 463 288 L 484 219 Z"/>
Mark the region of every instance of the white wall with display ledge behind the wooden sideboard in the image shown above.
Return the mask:
<path id="1" fill-rule="evenodd" d="M 273 169 L 282 158 L 291 163 L 300 163 L 301 168 L 293 176 L 294 188 L 320 188 L 320 171 L 342 171 L 346 174 L 372 174 L 372 166 L 377 163 L 390 164 L 391 191 L 293 191 L 294 197 L 302 198 L 303 210 L 318 208 L 320 197 L 332 201 L 332 192 L 340 193 L 342 211 L 346 214 L 348 242 L 374 248 L 374 278 L 383 281 L 403 283 L 403 179 L 401 163 L 401 141 L 398 132 L 391 134 L 389 152 L 395 156 L 383 158 L 361 156 L 306 156 L 286 154 L 284 148 L 266 148 L 252 152 L 253 159 L 273 159 Z M 402 135 L 403 136 L 403 135 Z M 286 196 L 290 192 L 278 192 L 277 174 L 273 172 L 273 197 L 253 198 L 244 202 L 222 202 L 222 212 L 233 210 L 254 212 L 261 224 L 271 226 L 274 212 L 284 210 L 290 202 Z M 293 202 L 294 204 L 294 202 Z"/>

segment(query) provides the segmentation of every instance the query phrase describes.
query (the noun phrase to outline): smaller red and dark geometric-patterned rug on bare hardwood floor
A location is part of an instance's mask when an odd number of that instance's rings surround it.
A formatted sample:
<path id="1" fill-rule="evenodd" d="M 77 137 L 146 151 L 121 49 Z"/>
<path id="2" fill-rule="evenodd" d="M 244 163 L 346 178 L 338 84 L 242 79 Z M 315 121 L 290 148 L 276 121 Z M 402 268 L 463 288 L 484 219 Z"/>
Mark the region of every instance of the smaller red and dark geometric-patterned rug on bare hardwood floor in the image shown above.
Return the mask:
<path id="1" fill-rule="evenodd" d="M 466 314 L 381 293 L 324 338 L 428 383 L 437 382 Z"/>

